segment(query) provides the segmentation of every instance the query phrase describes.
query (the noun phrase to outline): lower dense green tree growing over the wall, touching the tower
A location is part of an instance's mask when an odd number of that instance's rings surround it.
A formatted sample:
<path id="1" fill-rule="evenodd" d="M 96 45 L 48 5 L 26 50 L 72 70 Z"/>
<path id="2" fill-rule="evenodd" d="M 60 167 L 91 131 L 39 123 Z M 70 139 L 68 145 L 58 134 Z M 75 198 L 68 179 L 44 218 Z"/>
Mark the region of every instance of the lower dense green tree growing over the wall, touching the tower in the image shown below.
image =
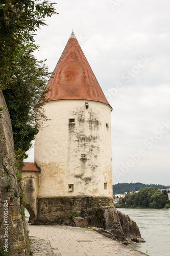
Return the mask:
<path id="1" fill-rule="evenodd" d="M 17 79 L 3 90 L 11 117 L 15 151 L 22 148 L 25 152 L 46 120 L 42 106 L 48 100 L 45 84 L 51 75 L 44 61 L 28 55 L 28 51 L 22 54 L 17 61 Z M 38 101 L 41 103 L 37 104 Z"/>

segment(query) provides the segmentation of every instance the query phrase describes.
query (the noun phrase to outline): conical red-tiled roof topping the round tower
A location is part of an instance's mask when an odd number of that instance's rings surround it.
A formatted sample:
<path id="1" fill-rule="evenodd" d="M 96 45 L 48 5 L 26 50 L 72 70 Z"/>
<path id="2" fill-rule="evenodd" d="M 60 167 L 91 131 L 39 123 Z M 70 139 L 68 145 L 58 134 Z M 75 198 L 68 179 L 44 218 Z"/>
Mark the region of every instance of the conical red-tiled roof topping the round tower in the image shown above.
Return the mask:
<path id="1" fill-rule="evenodd" d="M 110 105 L 74 32 L 71 33 L 53 73 L 53 78 L 47 83 L 51 91 L 46 97 L 50 98 L 50 101 L 83 99 Z"/>

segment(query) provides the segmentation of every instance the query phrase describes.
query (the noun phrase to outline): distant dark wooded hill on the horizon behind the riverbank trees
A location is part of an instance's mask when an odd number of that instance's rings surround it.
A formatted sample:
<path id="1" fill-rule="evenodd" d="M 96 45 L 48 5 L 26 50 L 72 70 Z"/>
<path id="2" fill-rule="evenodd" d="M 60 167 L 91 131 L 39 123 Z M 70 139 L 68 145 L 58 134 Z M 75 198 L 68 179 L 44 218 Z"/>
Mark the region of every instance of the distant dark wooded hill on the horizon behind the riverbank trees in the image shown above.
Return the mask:
<path id="1" fill-rule="evenodd" d="M 163 188 L 166 188 L 166 186 L 163 186 L 163 185 L 155 185 L 155 184 L 143 184 L 143 183 L 140 183 L 140 182 L 137 182 L 137 183 L 118 183 L 118 184 L 115 184 L 113 185 L 113 195 L 115 194 L 124 194 L 125 192 L 128 192 L 128 191 L 138 191 L 140 188 L 143 188 L 143 187 L 156 187 L 156 188 L 160 188 L 160 189 L 163 189 Z"/>

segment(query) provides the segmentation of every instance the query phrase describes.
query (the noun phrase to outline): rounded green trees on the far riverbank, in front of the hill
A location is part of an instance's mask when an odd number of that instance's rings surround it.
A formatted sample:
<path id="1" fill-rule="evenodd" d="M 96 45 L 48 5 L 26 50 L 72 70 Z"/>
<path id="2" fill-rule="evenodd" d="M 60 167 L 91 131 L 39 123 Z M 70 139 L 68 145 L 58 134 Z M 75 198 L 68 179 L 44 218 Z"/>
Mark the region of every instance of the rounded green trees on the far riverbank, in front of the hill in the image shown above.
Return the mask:
<path id="1" fill-rule="evenodd" d="M 162 192 L 156 187 L 144 187 L 138 193 L 128 193 L 116 208 L 169 208 L 167 191 Z"/>

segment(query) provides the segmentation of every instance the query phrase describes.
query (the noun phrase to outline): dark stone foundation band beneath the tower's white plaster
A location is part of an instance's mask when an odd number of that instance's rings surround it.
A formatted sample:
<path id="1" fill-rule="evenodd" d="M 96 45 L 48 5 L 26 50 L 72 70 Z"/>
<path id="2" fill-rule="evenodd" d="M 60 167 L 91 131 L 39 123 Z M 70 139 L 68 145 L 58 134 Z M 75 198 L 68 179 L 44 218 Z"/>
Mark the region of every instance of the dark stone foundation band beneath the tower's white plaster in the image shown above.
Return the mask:
<path id="1" fill-rule="evenodd" d="M 50 197 L 37 198 L 36 224 L 61 225 L 69 222 L 68 215 L 83 209 L 113 206 L 109 197 Z"/>

